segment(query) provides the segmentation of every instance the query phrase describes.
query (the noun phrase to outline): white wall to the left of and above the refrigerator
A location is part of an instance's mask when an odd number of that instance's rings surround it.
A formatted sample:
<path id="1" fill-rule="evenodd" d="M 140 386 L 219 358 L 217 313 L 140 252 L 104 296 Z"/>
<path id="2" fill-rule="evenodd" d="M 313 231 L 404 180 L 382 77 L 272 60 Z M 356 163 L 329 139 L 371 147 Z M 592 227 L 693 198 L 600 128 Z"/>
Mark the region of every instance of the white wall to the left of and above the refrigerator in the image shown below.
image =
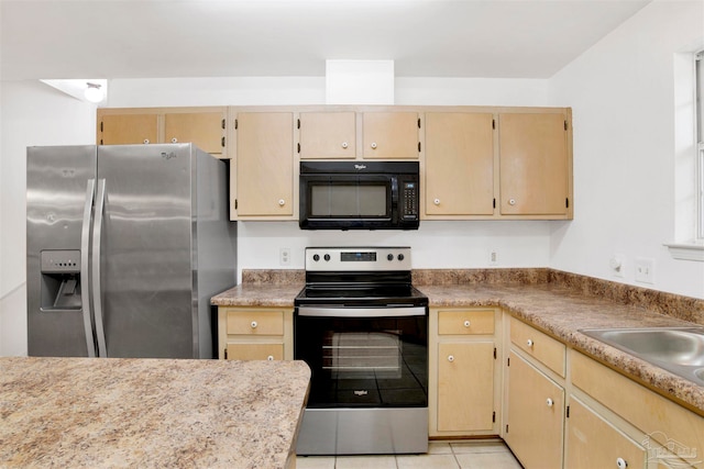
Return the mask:
<path id="1" fill-rule="evenodd" d="M 96 108 L 38 81 L 0 92 L 0 356 L 26 355 L 26 147 L 95 143 Z"/>

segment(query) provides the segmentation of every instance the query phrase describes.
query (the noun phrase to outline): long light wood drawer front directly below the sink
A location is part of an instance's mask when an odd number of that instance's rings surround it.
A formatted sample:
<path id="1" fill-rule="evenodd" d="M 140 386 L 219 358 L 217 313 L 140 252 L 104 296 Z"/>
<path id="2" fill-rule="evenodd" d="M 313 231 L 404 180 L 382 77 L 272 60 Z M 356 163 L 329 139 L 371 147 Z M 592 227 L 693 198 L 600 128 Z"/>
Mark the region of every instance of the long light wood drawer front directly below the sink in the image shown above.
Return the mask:
<path id="1" fill-rule="evenodd" d="M 685 456 L 704 448 L 704 417 L 579 351 L 570 354 L 572 383 L 644 432 L 646 448 L 670 447 Z"/>

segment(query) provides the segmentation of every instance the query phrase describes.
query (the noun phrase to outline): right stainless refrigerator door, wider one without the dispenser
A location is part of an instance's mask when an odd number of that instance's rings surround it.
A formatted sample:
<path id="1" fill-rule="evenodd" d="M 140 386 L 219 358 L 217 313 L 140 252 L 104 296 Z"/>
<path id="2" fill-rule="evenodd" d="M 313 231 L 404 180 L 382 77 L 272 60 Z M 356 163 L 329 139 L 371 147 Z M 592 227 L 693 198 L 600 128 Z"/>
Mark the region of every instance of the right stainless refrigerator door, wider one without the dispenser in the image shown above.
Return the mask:
<path id="1" fill-rule="evenodd" d="M 190 144 L 98 149 L 108 357 L 194 357 L 193 171 Z"/>

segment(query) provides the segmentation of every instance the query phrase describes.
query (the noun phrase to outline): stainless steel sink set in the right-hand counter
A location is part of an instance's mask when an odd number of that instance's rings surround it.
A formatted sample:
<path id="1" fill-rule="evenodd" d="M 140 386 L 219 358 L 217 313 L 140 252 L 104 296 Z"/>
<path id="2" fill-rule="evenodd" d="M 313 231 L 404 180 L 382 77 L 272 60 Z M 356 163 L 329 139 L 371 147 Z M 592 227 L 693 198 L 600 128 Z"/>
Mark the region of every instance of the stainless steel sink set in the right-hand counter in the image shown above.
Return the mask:
<path id="1" fill-rule="evenodd" d="M 704 327 L 587 328 L 580 332 L 704 386 Z"/>

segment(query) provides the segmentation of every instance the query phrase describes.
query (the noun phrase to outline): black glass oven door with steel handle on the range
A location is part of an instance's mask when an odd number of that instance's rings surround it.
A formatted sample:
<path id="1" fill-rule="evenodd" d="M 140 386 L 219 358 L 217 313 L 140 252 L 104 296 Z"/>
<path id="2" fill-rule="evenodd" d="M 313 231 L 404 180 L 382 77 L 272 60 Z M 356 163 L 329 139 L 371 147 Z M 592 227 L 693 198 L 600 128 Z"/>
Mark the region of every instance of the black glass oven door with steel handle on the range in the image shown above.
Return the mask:
<path id="1" fill-rule="evenodd" d="M 299 306 L 294 356 L 312 371 L 308 409 L 428 406 L 428 313 Z"/>

